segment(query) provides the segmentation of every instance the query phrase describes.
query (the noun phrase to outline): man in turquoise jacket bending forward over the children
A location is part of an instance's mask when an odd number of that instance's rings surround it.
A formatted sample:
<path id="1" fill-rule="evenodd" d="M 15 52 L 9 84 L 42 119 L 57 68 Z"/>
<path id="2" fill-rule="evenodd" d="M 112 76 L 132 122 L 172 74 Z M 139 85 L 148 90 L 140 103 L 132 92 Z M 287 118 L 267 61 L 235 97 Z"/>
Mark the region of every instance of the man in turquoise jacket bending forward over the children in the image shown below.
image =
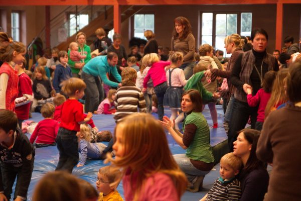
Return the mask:
<path id="1" fill-rule="evenodd" d="M 111 87 L 121 86 L 120 83 L 110 81 L 106 73 L 112 74 L 118 82 L 121 76 L 117 72 L 116 64 L 118 56 L 114 52 L 109 52 L 106 56 L 97 56 L 86 63 L 82 69 L 81 77 L 87 85 L 85 89 L 85 112 L 94 112 L 99 103 L 104 99 L 102 83 L 99 79 Z"/>

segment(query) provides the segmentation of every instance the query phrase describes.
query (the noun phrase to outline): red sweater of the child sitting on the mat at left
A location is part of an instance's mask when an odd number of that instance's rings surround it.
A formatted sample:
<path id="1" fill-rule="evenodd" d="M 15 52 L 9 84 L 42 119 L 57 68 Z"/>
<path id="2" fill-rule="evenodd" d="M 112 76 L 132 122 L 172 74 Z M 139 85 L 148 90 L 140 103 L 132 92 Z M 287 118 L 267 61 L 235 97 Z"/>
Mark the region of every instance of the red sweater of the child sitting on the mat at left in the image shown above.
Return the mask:
<path id="1" fill-rule="evenodd" d="M 40 121 L 30 137 L 30 142 L 33 144 L 53 144 L 56 141 L 56 136 L 59 130 L 59 122 L 53 119 L 44 119 Z"/>

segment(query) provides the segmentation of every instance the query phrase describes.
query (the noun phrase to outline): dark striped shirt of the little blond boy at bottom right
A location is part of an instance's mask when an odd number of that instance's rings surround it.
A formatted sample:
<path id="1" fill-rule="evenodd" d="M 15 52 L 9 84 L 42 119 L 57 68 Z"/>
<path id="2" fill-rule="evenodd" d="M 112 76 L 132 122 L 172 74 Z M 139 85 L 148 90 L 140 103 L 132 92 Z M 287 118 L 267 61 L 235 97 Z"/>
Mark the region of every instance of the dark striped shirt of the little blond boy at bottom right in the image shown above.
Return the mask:
<path id="1" fill-rule="evenodd" d="M 212 200 L 239 200 L 241 196 L 240 181 L 236 178 L 230 181 L 222 181 L 218 178 L 209 190 L 206 201 Z"/>

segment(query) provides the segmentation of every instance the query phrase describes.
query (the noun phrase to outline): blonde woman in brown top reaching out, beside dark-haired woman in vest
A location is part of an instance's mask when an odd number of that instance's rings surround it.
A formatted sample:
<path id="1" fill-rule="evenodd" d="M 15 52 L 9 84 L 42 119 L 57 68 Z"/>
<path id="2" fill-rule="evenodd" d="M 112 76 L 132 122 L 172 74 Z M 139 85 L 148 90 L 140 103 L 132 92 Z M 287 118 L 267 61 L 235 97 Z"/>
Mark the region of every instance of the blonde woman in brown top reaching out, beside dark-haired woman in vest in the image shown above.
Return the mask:
<path id="1" fill-rule="evenodd" d="M 232 55 L 228 61 L 226 70 L 210 68 L 205 72 L 206 76 L 211 76 L 211 81 L 215 80 L 217 76 L 227 79 L 226 82 L 228 84 L 228 91 L 226 91 L 225 93 L 227 93 L 227 94 L 225 96 L 223 96 L 223 101 L 224 101 L 223 108 L 224 108 L 224 110 L 226 108 L 225 117 L 224 117 L 224 129 L 226 131 L 226 134 L 228 133 L 228 130 L 229 130 L 229 122 L 230 122 L 231 114 L 232 114 L 232 107 L 233 107 L 232 104 L 233 104 L 233 100 L 234 100 L 234 92 L 236 89 L 229 80 L 230 80 L 233 66 L 234 66 L 238 56 L 243 53 L 243 51 L 242 51 L 243 45 L 244 45 L 244 39 L 242 39 L 238 34 L 231 34 L 230 36 L 227 36 L 225 38 L 226 52 L 227 52 L 227 54 L 232 54 Z M 228 96 L 228 98 L 225 98 L 227 96 Z"/>

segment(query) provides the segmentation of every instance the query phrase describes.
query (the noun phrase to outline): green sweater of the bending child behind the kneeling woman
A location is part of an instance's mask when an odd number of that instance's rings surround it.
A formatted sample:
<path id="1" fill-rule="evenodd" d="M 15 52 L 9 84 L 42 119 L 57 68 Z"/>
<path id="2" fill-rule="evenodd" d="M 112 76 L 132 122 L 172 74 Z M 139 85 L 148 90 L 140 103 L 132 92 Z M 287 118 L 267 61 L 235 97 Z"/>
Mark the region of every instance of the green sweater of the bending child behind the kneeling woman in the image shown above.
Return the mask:
<path id="1" fill-rule="evenodd" d="M 203 84 L 201 79 L 204 76 L 204 72 L 205 71 L 201 71 L 201 72 L 197 72 L 196 74 L 194 74 L 186 83 L 184 89 L 187 91 L 189 89 L 196 89 L 198 90 L 201 95 L 203 100 L 212 100 L 212 93 L 207 91 Z"/>

